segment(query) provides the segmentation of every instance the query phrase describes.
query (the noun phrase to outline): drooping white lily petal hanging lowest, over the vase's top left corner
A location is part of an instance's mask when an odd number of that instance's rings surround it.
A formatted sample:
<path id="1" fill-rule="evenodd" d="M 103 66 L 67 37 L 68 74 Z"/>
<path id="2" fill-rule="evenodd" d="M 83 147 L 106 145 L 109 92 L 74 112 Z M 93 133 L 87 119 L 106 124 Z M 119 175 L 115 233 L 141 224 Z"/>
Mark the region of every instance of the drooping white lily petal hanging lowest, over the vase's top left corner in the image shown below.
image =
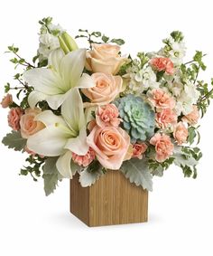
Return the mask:
<path id="1" fill-rule="evenodd" d="M 71 152 L 68 150 L 64 155 L 60 156 L 56 162 L 56 167 L 65 178 L 72 178 L 72 170 L 71 170 Z"/>

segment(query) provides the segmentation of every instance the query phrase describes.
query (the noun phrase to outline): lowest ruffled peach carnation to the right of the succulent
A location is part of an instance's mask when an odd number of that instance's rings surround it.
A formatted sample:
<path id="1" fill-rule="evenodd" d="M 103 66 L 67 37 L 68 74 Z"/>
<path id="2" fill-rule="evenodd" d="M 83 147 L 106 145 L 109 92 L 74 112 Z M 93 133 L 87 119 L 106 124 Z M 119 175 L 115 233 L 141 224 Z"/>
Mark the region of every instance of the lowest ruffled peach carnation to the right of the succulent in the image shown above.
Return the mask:
<path id="1" fill-rule="evenodd" d="M 155 146 L 156 156 L 155 159 L 158 162 L 163 162 L 173 154 L 173 144 L 171 143 L 171 137 L 156 133 L 150 140 L 150 144 Z"/>

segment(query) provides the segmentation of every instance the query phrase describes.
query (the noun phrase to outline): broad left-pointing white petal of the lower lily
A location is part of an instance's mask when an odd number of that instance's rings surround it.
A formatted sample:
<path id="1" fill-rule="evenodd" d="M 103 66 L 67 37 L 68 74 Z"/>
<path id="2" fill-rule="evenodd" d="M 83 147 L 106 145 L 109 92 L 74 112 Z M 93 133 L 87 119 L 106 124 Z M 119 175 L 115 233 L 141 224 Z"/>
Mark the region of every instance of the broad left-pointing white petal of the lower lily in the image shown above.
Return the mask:
<path id="1" fill-rule="evenodd" d="M 29 137 L 27 147 L 42 156 L 60 156 L 64 152 L 67 137 L 67 130 L 50 126 Z"/>

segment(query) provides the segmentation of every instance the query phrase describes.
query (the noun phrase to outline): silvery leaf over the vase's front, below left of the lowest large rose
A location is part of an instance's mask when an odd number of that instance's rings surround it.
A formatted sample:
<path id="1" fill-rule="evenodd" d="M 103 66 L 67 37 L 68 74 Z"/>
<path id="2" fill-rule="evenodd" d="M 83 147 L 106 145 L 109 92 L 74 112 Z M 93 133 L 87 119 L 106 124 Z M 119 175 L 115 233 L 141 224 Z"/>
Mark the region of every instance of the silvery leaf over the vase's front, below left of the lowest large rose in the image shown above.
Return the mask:
<path id="1" fill-rule="evenodd" d="M 102 169 L 103 167 L 97 161 L 94 161 L 90 166 L 86 167 L 82 172 L 80 172 L 80 185 L 83 187 L 93 185 L 100 178 L 100 176 L 104 174 Z"/>

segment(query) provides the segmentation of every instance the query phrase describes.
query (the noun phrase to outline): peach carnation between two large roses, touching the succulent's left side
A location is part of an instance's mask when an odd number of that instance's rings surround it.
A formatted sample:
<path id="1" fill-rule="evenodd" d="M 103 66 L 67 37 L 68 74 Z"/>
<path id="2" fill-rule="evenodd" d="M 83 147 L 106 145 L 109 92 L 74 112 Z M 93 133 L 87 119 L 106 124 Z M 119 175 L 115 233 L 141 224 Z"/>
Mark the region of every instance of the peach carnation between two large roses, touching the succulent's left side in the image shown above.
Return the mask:
<path id="1" fill-rule="evenodd" d="M 121 119 L 118 119 L 119 111 L 114 104 L 107 104 L 97 108 L 96 121 L 99 127 L 118 127 Z"/>

